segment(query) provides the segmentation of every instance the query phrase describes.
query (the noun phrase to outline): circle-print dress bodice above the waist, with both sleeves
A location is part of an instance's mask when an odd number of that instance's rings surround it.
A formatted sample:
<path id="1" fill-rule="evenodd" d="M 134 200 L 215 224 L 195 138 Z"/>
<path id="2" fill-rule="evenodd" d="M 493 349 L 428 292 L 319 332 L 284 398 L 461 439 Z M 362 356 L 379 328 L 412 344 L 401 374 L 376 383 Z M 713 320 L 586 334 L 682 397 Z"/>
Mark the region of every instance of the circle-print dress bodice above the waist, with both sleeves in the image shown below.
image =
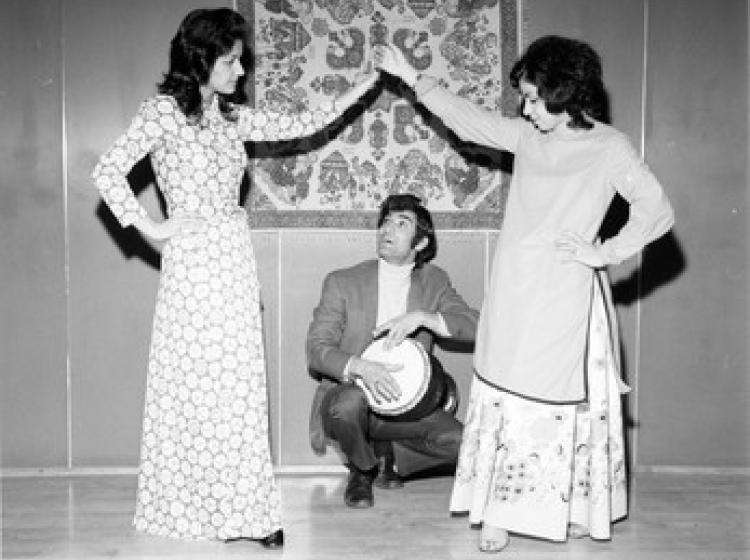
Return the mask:
<path id="1" fill-rule="evenodd" d="M 311 135 L 337 116 L 334 104 L 323 102 L 315 110 L 291 115 L 237 107 L 232 122 L 222 117 L 214 100 L 202 122 L 192 125 L 171 97 L 155 96 L 141 105 L 128 131 L 99 159 L 94 182 L 120 224 L 132 224 L 146 211 L 130 189 L 127 173 L 151 153 L 170 215 L 233 213 L 247 164 L 243 142 Z"/>

